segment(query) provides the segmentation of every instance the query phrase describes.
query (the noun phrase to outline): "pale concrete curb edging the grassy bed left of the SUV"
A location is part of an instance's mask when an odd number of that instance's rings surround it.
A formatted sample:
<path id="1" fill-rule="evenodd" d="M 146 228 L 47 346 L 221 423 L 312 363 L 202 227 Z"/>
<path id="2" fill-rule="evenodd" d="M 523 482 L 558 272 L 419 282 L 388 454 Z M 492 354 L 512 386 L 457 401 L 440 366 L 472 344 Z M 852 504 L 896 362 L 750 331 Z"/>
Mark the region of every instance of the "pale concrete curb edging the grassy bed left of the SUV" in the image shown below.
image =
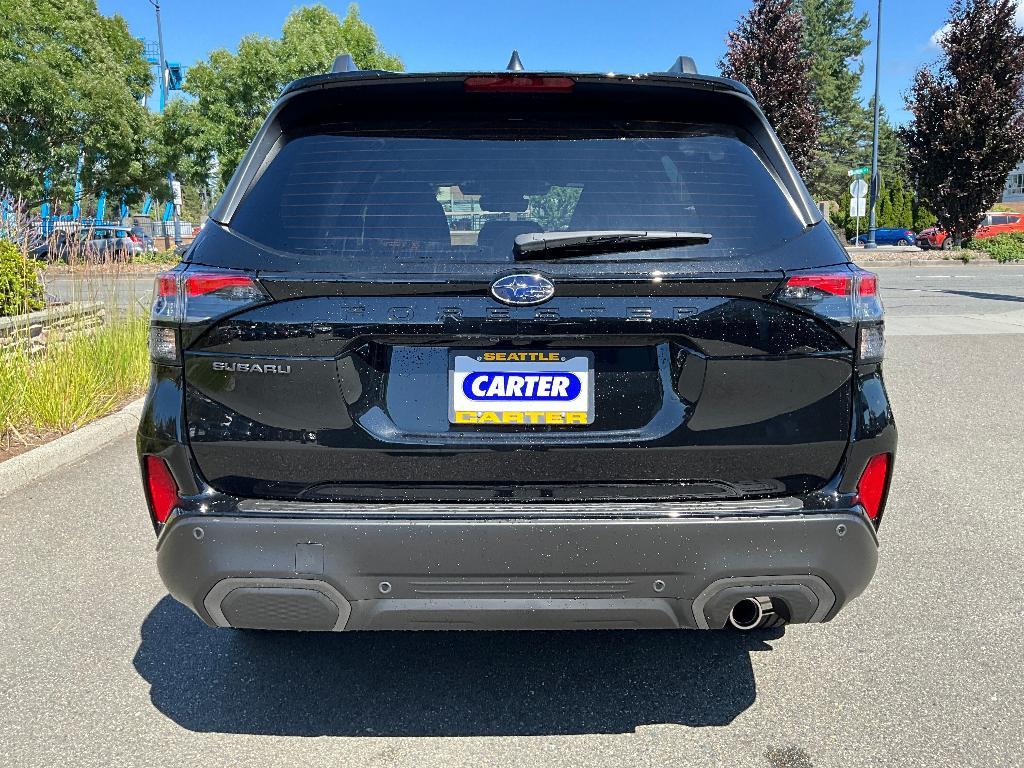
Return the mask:
<path id="1" fill-rule="evenodd" d="M 81 429 L 0 462 L 0 499 L 135 430 L 143 400 L 139 397 Z"/>

